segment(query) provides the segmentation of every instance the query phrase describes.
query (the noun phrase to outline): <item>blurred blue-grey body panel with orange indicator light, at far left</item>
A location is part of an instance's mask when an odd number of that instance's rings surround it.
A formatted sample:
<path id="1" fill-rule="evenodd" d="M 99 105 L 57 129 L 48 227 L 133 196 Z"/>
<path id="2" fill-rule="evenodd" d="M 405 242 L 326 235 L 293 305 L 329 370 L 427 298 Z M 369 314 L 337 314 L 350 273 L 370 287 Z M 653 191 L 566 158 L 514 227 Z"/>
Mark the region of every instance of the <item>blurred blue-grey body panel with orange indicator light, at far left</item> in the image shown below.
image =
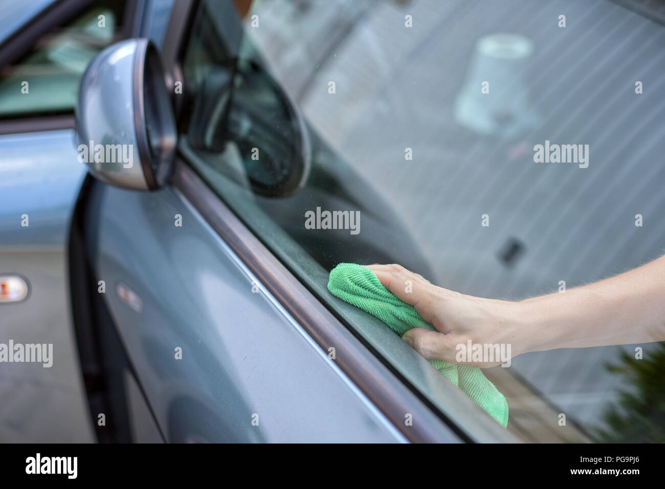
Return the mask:
<path id="1" fill-rule="evenodd" d="M 27 300 L 0 304 L 0 343 L 53 343 L 51 367 L 3 363 L 0 441 L 94 441 L 67 265 L 69 223 L 85 173 L 72 130 L 0 136 L 0 273 L 20 273 L 30 286 Z"/>

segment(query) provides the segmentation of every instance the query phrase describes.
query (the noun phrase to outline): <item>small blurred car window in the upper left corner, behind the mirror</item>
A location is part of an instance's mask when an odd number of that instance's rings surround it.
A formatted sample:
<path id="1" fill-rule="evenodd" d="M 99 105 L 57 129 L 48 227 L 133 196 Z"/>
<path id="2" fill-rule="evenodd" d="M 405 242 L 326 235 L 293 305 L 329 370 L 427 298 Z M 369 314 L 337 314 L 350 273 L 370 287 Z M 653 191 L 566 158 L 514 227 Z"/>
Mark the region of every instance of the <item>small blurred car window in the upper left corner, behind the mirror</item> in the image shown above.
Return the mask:
<path id="1" fill-rule="evenodd" d="M 88 62 L 122 38 L 124 1 L 96 1 L 0 67 L 0 117 L 72 112 Z"/>

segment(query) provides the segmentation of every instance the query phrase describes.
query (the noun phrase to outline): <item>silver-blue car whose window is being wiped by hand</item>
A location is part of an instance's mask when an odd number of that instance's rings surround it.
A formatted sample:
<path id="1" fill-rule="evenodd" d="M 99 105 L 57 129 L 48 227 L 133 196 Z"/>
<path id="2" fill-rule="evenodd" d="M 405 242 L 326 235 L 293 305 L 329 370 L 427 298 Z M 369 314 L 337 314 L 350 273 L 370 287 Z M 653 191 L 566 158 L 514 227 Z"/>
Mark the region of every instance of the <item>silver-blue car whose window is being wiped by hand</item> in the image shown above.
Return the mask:
<path id="1" fill-rule="evenodd" d="M 617 423 L 649 385 L 606 364 L 660 343 L 485 369 L 504 429 L 327 283 L 340 262 L 400 263 L 521 298 L 659 256 L 662 10 L 0 10 L 0 344 L 43 347 L 0 363 L 0 441 L 650 440 Z M 546 140 L 591 149 L 541 166 Z M 358 217 L 308 223 L 325 212 Z"/>

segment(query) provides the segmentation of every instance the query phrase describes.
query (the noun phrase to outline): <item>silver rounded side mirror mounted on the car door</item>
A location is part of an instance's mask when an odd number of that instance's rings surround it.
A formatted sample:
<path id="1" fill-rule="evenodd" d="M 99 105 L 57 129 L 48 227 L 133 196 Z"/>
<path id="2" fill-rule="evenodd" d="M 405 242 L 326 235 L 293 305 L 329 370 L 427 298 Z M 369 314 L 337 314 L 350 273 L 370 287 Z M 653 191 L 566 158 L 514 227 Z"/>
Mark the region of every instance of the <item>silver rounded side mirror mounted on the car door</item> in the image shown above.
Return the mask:
<path id="1" fill-rule="evenodd" d="M 178 132 L 158 50 L 128 39 L 102 50 L 83 74 L 76 108 L 78 159 L 105 183 L 163 187 Z"/>

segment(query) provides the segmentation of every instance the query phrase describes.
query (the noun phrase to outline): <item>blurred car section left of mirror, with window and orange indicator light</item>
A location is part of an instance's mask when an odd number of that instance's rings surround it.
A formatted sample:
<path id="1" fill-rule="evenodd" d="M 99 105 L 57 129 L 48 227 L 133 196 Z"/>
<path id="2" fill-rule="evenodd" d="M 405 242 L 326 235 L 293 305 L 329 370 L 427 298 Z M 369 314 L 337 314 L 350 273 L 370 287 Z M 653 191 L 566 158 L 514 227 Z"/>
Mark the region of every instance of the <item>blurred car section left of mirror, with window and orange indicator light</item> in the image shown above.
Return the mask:
<path id="1" fill-rule="evenodd" d="M 3 4 L 0 342 L 52 348 L 48 366 L 3 363 L 3 442 L 94 440 L 68 283 L 68 231 L 85 175 L 74 144 L 74 106 L 88 60 L 132 35 L 142 5 L 103 0 Z M 13 283 L 22 283 L 25 294 L 11 294 Z"/>

